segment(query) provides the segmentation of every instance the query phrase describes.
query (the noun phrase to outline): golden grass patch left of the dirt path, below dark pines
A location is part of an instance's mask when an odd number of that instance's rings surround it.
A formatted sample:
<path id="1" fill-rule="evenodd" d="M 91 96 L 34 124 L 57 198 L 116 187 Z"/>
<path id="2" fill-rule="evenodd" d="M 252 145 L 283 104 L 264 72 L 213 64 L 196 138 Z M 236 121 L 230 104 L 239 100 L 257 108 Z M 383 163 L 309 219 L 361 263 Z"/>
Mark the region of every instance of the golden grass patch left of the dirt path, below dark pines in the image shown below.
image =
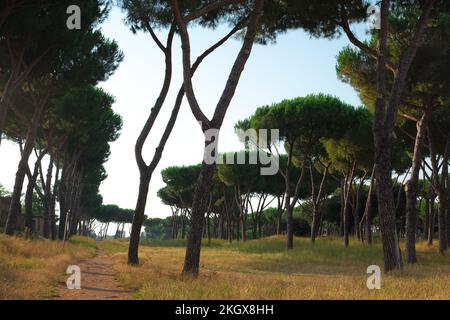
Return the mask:
<path id="1" fill-rule="evenodd" d="M 95 255 L 95 241 L 74 237 L 64 250 L 60 241 L 0 235 L 0 299 L 47 299 L 65 279 L 65 270 Z"/>

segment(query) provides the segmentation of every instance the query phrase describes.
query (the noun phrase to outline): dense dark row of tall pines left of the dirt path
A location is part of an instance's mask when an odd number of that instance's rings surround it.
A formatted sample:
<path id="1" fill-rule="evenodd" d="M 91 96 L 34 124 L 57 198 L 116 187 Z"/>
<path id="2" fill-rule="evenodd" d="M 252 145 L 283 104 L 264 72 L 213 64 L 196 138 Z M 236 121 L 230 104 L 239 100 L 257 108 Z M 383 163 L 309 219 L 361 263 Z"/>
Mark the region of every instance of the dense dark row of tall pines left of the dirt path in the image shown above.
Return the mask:
<path id="1" fill-rule="evenodd" d="M 103 164 L 122 119 L 111 109 L 113 96 L 97 84 L 113 74 L 123 54 L 98 28 L 107 1 L 79 1 L 76 30 L 66 25 L 77 19 L 66 13 L 71 4 L 21 0 L 0 7 L 0 139 L 20 147 L 3 226 L 8 235 L 34 231 L 33 207 L 41 208 L 43 236 L 52 239 L 86 233 L 101 208 Z M 24 226 L 18 223 L 23 213 Z"/>

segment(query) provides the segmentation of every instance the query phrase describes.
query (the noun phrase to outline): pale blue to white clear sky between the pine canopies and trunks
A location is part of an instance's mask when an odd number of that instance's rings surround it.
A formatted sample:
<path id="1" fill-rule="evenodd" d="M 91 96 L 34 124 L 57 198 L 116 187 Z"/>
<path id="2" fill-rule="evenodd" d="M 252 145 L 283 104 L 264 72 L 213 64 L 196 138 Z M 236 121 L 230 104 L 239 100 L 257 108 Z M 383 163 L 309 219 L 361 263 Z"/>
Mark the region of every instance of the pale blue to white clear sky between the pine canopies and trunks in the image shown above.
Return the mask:
<path id="1" fill-rule="evenodd" d="M 116 97 L 114 110 L 123 117 L 120 138 L 111 145 L 111 156 L 105 164 L 108 178 L 100 192 L 105 204 L 134 208 L 139 184 L 139 172 L 134 158 L 134 145 L 147 119 L 162 84 L 164 60 L 161 51 L 149 34 L 133 35 L 123 23 L 123 13 L 114 8 L 105 21 L 103 33 L 115 39 L 125 59 L 116 73 L 101 87 Z M 365 25 L 355 26 L 360 37 L 365 36 Z M 225 26 L 214 31 L 191 30 L 192 59 L 201 54 L 228 32 Z M 165 38 L 166 32 L 158 35 Z M 349 42 L 339 39 L 314 39 L 303 31 L 292 31 L 280 36 L 276 44 L 256 45 L 239 82 L 220 133 L 219 151 L 242 148 L 233 126 L 250 116 L 257 107 L 279 102 L 286 98 L 310 93 L 332 94 L 355 106 L 361 104 L 356 92 L 336 77 L 336 55 Z M 224 88 L 229 70 L 241 43 L 232 39 L 210 55 L 194 77 L 194 89 L 201 107 L 212 115 Z M 180 42 L 174 42 L 174 73 L 172 87 L 156 126 L 151 132 L 144 156 L 150 161 L 162 130 L 170 115 L 175 95 L 182 84 Z M 199 125 L 183 102 L 177 123 L 167 142 L 163 157 L 156 169 L 148 195 L 146 214 L 150 217 L 170 215 L 170 208 L 161 204 L 156 192 L 164 184 L 160 171 L 172 165 L 199 163 L 203 156 L 203 137 Z M 19 148 L 8 141 L 0 147 L 0 183 L 11 190 L 19 161 Z M 31 163 L 31 162 L 30 162 Z"/>

